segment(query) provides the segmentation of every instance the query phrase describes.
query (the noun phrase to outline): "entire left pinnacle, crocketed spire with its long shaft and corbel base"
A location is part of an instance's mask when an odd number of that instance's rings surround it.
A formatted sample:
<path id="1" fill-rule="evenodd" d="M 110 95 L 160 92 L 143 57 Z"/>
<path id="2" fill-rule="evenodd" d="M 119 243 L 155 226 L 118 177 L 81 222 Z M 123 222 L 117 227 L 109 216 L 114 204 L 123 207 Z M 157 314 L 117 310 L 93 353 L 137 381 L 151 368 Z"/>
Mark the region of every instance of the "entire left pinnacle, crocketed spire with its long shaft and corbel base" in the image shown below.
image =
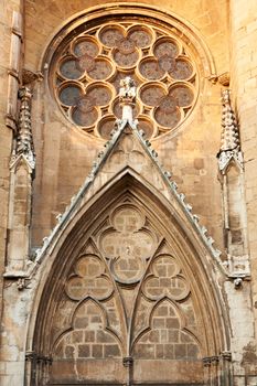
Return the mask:
<path id="1" fill-rule="evenodd" d="M 8 219 L 10 247 L 8 249 L 8 267 L 4 276 L 20 277 L 21 280 L 18 282 L 18 288 L 23 289 L 25 282 L 22 278 L 28 276 L 26 270 L 29 268 L 29 232 L 35 154 L 31 131 L 31 90 L 28 87 L 22 87 L 19 90 L 19 98 L 18 133 L 10 160 L 10 185 L 12 186 L 9 197 Z"/>

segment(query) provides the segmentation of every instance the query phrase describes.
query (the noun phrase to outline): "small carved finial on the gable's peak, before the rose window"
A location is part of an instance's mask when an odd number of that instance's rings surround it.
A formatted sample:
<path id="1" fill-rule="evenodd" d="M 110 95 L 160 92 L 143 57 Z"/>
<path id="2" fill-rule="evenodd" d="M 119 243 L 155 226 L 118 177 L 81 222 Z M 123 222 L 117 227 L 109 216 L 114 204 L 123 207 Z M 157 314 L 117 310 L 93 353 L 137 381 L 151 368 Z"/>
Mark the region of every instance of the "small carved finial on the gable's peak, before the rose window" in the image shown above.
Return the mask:
<path id="1" fill-rule="evenodd" d="M 120 81 L 120 89 L 119 89 L 119 101 L 122 107 L 122 120 L 132 121 L 132 107 L 136 103 L 137 89 L 135 86 L 135 82 L 130 76 L 126 76 Z"/>

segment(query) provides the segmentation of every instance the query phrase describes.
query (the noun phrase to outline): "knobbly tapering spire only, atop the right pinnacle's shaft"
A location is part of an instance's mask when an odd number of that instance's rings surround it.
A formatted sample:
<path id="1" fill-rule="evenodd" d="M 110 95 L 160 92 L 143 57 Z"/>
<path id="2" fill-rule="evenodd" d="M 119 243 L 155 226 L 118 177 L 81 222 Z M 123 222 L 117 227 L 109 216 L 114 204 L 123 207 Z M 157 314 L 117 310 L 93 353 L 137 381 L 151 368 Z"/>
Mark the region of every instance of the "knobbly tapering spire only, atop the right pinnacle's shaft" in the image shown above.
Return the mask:
<path id="1" fill-rule="evenodd" d="M 228 163 L 234 160 L 242 168 L 243 156 L 240 152 L 239 130 L 235 112 L 231 105 L 231 90 L 222 93 L 222 139 L 221 150 L 217 153 L 221 172 L 225 172 Z"/>

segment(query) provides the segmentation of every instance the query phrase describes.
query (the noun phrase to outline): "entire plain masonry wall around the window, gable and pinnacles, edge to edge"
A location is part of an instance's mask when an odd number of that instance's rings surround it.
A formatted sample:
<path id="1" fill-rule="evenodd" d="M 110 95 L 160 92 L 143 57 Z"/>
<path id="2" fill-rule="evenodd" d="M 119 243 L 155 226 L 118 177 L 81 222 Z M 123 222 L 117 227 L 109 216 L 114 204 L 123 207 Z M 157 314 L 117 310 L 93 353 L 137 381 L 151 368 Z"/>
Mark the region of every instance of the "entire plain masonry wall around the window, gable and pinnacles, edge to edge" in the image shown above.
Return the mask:
<path id="1" fill-rule="evenodd" d="M 114 9 L 118 1 L 114 1 Z M 159 7 L 159 1 L 141 1 Z M 77 12 L 86 12 L 101 1 L 25 1 L 24 20 L 24 67 L 31 74 L 42 72 L 43 55 L 51 39 Z M 229 7 L 228 7 L 229 6 Z M 224 250 L 221 184 L 217 180 L 216 153 L 221 137 L 221 89 L 217 75 L 228 69 L 232 77 L 232 96 L 237 109 L 242 148 L 245 157 L 245 193 L 248 216 L 248 243 L 253 280 L 235 289 L 233 280 L 224 286 L 224 300 L 229 312 L 232 331 L 232 351 L 235 362 L 235 385 L 251 385 L 256 377 L 256 342 L 251 307 L 257 309 L 257 233 L 256 233 L 256 193 L 257 193 L 257 127 L 256 127 L 256 63 L 257 6 L 254 0 L 208 0 L 167 1 L 162 11 L 178 15 L 195 29 L 195 35 L 203 36 L 216 64 L 213 79 L 206 77 L 206 68 L 200 72 L 200 95 L 194 110 L 175 133 L 168 133 L 152 141 L 164 169 L 173 173 L 179 191 L 185 193 L 192 203 L 193 212 L 206 225 L 219 249 Z M 3 39 L 0 42 L 0 271 L 6 259 L 6 238 L 8 228 L 9 160 L 12 131 L 6 127 L 8 69 L 10 69 L 12 11 L 21 11 L 20 1 L 7 1 L 0 12 L 0 28 Z M 228 15 L 231 13 L 231 25 Z M 231 30 L 229 30 L 231 26 Z M 231 51 L 231 57 L 228 57 Z M 195 57 L 201 62 L 203 57 Z M 44 72 L 45 71 L 45 72 Z M 33 77 L 33 76 L 32 76 Z M 36 78 L 36 76 L 34 76 Z M 10 79 L 10 77 L 9 77 Z M 40 246 L 44 236 L 50 234 L 56 223 L 56 215 L 63 212 L 92 168 L 93 160 L 103 148 L 104 141 L 83 133 L 64 118 L 49 89 L 47 77 L 33 81 L 32 130 L 36 152 L 36 175 L 33 185 L 32 246 Z M 14 88 L 15 90 L 15 88 Z M 237 196 L 236 184 L 235 194 Z M 233 206 L 234 207 L 234 206 Z M 242 205 L 244 210 L 244 205 Z M 233 208 L 236 212 L 237 208 Z M 237 227 L 235 226 L 235 229 Z M 240 255 L 240 251 L 237 250 Z M 236 254 L 236 251 L 235 251 Z M 47 268 L 47 267 L 46 267 Z M 47 270 L 42 275 L 47 274 Z M 39 275 L 39 274 L 38 274 Z M 1 334 L 0 383 L 4 386 L 22 385 L 24 379 L 25 340 L 28 314 L 36 317 L 36 307 L 31 310 L 33 293 L 41 278 L 32 282 L 21 282 L 19 291 L 13 278 L 6 280 L 4 305 Z M 217 279 L 218 281 L 218 279 Z M 26 287 L 28 288 L 24 288 Z M 251 287 L 250 287 L 251 286 Z M 253 299 L 250 290 L 253 290 Z M 0 292 L 0 296 L 2 290 Z M 40 299 L 40 296 L 38 296 Z M 251 302 L 253 300 L 253 302 Z M 256 325 L 257 325 L 257 311 Z M 24 334 L 25 335 L 25 334 Z M 32 342 L 32 336 L 29 339 Z M 78 342 L 79 343 L 79 342 Z M 146 342 L 144 342 L 146 343 Z M 29 347 L 30 349 L 30 347 Z M 88 347 L 86 346 L 85 350 Z M 85 355 L 84 355 L 85 354 Z M 83 355 L 86 356 L 85 351 Z M 224 354 L 226 355 L 226 353 Z M 94 355 L 93 355 L 94 356 Z M 222 361 L 222 355 L 219 357 Z M 215 362 L 215 358 L 213 360 Z M 221 362 L 219 362 L 221 363 Z M 210 367 L 211 368 L 211 367 Z M 210 372 L 214 372 L 210 369 Z M 216 374 L 216 373 L 215 373 Z M 216 376 L 216 375 L 215 375 Z M 213 377 L 215 377 L 213 375 Z M 254 380 L 253 380 L 254 379 Z"/>

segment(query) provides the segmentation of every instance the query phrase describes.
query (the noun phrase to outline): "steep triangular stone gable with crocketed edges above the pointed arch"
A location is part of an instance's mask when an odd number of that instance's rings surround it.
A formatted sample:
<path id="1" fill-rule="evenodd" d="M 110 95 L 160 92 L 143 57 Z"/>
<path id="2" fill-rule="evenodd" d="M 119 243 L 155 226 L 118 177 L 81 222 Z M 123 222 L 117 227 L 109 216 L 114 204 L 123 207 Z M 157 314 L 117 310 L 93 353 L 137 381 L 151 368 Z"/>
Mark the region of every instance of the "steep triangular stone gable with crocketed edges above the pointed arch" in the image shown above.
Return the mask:
<path id="1" fill-rule="evenodd" d="M 221 271 L 225 272 L 219 260 L 221 253 L 213 247 L 214 240 L 207 235 L 207 229 L 199 224 L 199 217 L 192 213 L 192 206 L 185 202 L 184 194 L 179 193 L 176 183 L 171 180 L 171 173 L 162 169 L 158 153 L 149 140 L 144 139 L 143 131 L 137 129 L 137 121 L 127 118 L 117 121 L 117 128 L 113 130 L 110 140 L 105 143 L 105 149 L 94 161 L 84 184 L 72 197 L 66 211 L 57 216 L 58 223 L 51 235 L 44 238 L 43 247 L 38 249 L 35 262 L 42 261 L 46 250 L 52 249 L 63 229 L 84 205 L 125 175 L 133 176 L 150 191 L 161 194 L 163 200 L 172 205 L 172 215 L 180 218 L 180 223 L 186 223 L 188 232 L 191 228 L 192 237 L 200 240 L 207 249 L 207 255 Z"/>

